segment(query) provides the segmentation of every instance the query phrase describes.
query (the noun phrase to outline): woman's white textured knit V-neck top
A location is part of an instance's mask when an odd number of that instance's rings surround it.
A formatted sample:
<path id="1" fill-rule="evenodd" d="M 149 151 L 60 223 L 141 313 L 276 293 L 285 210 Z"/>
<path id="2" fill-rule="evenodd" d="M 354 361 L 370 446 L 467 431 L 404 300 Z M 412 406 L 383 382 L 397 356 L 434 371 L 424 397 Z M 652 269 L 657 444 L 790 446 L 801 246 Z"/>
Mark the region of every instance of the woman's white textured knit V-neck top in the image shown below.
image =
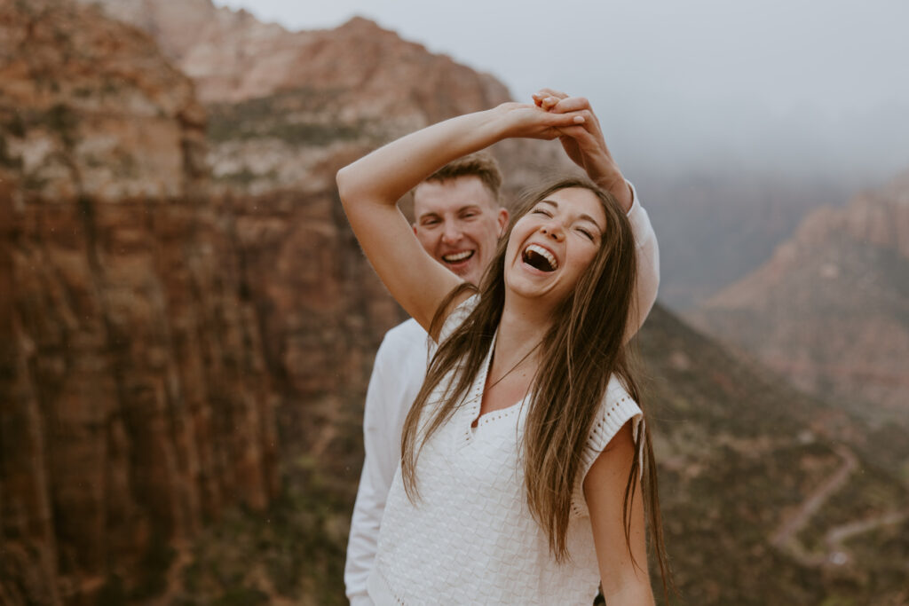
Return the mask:
<path id="1" fill-rule="evenodd" d="M 476 297 L 445 321 L 441 339 L 463 322 Z M 600 581 L 582 482 L 625 422 L 643 415 L 615 378 L 587 439 L 574 489 L 567 546 L 554 561 L 527 509 L 520 435 L 526 399 L 479 418 L 492 347 L 464 402 L 417 459 L 420 500 L 410 502 L 400 467 L 385 505 L 369 596 L 385 604 L 584 604 Z M 441 394 L 434 393 L 434 396 Z M 624 545 L 621 546 L 624 549 Z"/>

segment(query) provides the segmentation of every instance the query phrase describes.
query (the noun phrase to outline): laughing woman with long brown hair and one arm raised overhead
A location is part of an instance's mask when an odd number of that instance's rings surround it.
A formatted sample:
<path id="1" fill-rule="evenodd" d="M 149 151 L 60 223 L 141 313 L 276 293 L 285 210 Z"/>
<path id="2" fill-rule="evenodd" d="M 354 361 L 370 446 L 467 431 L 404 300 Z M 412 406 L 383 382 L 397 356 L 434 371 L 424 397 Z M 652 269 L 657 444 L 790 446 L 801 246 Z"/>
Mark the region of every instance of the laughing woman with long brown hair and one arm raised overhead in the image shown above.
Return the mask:
<path id="1" fill-rule="evenodd" d="M 666 578 L 653 451 L 624 348 L 640 323 L 632 193 L 586 102 L 550 93 L 429 126 L 338 173 L 366 256 L 438 343 L 385 505 L 369 579 L 377 604 L 589 605 L 598 583 L 609 606 L 652 604 L 647 526 Z M 511 137 L 560 137 L 624 199 L 582 179 L 544 185 L 476 289 L 425 253 L 395 203 Z"/>

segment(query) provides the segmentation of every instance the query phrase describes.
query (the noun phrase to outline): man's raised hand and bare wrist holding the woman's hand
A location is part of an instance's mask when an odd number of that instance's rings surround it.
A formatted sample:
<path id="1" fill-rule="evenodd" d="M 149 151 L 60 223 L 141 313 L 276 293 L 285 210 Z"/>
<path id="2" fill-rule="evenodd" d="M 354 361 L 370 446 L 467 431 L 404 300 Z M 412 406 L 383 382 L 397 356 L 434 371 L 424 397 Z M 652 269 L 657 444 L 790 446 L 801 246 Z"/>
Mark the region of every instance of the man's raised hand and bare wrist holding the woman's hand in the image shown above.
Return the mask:
<path id="1" fill-rule="evenodd" d="M 565 154 L 583 168 L 595 184 L 613 194 L 626 212 L 631 210 L 631 189 L 606 147 L 600 121 L 590 102 L 584 97 L 570 97 L 551 88 L 541 89 L 533 96 L 534 104 L 548 113 L 574 114 L 584 118 L 583 122 L 559 128 L 559 141 Z"/>

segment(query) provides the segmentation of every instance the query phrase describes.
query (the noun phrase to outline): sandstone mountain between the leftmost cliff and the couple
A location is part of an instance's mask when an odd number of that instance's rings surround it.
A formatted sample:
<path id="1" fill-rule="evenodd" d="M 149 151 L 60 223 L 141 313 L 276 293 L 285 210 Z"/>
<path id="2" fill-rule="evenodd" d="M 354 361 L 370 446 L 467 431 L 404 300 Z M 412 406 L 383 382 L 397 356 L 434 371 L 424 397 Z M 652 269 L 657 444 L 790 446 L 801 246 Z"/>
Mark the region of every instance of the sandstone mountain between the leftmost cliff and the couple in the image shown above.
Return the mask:
<path id="1" fill-rule="evenodd" d="M 361 18 L 288 32 L 210 0 L 100 5 L 152 35 L 205 102 L 210 188 L 230 207 L 282 393 L 283 448 L 320 461 L 335 452 L 325 476 L 344 478 L 349 491 L 359 467 L 350 436 L 359 433 L 372 356 L 404 316 L 358 251 L 335 172 L 415 128 L 508 101 L 507 90 Z M 509 194 L 541 168 L 570 165 L 557 143 L 504 142 L 494 153 Z"/>

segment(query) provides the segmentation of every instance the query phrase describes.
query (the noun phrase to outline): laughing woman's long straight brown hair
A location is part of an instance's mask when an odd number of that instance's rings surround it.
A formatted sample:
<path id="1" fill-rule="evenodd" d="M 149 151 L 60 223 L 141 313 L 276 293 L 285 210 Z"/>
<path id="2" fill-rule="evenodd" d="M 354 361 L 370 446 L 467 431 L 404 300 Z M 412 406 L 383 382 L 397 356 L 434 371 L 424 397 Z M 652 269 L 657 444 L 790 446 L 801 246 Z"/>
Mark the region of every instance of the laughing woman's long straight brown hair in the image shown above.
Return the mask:
<path id="1" fill-rule="evenodd" d="M 613 196 L 579 178 L 563 179 L 525 196 L 484 274 L 479 303 L 464 323 L 440 343 L 429 363 L 423 387 L 405 419 L 401 442 L 405 491 L 413 501 L 419 497 L 416 461 L 420 451 L 463 402 L 464 394 L 484 363 L 502 317 L 505 247 L 514 223 L 534 204 L 568 187 L 582 187 L 596 194 L 603 203 L 606 229 L 594 260 L 574 292 L 559 305 L 552 326 L 544 335 L 541 363 L 531 386 L 532 397 L 522 442 L 527 504 L 548 535 L 549 548 L 556 561 L 565 561 L 568 557 L 566 534 L 574 485 L 580 480 L 584 444 L 610 378 L 615 375 L 641 405 L 641 393 L 629 368 L 624 343 L 637 275 L 634 235 L 627 216 Z M 470 289 L 474 287 L 462 284 L 449 293 L 435 313 L 430 334 L 435 337 L 439 333 L 451 303 Z M 445 382 L 449 374 L 451 380 Z M 434 399 L 435 412 L 421 423 L 430 395 L 443 382 L 445 392 L 441 400 Z M 664 551 L 654 452 L 646 424 L 642 423 L 641 428 L 635 437 L 634 461 L 623 497 L 625 543 L 630 553 L 630 512 L 640 474 L 650 545 L 659 564 L 664 592 L 668 593 L 667 582 L 671 584 L 671 580 Z"/>

